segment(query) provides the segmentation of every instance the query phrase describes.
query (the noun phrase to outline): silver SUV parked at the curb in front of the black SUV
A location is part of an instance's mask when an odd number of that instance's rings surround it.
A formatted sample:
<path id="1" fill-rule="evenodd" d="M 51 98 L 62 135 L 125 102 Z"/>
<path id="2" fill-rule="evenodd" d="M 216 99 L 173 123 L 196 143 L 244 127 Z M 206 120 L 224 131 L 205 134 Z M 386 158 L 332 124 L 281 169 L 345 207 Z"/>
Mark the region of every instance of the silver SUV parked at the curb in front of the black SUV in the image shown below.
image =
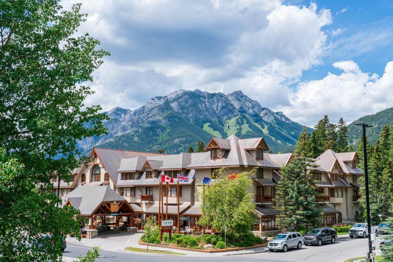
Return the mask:
<path id="1" fill-rule="evenodd" d="M 268 244 L 270 251 L 281 250 L 288 251 L 288 248 L 296 247 L 301 249 L 303 238 L 299 232 L 283 232 L 278 234 Z"/>

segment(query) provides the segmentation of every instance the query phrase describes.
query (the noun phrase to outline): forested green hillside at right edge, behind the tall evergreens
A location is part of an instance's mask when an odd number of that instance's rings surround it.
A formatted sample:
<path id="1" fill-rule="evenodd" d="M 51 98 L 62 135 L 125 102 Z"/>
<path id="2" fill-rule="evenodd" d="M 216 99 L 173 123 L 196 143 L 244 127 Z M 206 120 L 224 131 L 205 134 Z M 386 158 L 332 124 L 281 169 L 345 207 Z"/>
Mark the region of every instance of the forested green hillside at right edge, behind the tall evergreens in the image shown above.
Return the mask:
<path id="1" fill-rule="evenodd" d="M 376 140 L 379 138 L 379 134 L 382 131 L 384 125 L 390 125 L 393 121 L 393 107 L 382 110 L 373 115 L 365 115 L 359 119 L 353 121 L 348 125 L 348 140 L 349 143 L 357 145 L 360 134 L 362 134 L 362 128 L 355 126 L 355 123 L 366 123 L 372 125 L 372 128 L 366 128 L 367 138 L 369 142 L 375 145 Z"/>

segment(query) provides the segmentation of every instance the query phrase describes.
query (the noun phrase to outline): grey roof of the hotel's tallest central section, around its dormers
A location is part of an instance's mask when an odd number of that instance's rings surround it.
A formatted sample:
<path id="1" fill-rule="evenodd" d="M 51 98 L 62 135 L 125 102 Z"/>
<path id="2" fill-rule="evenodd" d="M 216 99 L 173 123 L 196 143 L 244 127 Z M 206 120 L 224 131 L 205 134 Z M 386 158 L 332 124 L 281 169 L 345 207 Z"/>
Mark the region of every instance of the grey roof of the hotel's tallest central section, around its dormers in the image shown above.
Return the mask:
<path id="1" fill-rule="evenodd" d="M 255 141 L 261 141 L 263 138 L 253 138 Z M 257 167 L 270 167 L 273 169 L 280 169 L 280 167 L 271 161 L 267 154 L 264 153 L 264 159 L 255 159 L 250 152 L 248 152 L 247 147 L 250 145 L 250 139 L 240 139 L 235 135 L 231 135 L 227 139 L 230 143 L 230 150 L 224 152 L 221 158 L 219 159 L 211 159 L 209 152 L 198 153 L 198 157 L 193 159 L 191 164 L 187 166 L 187 169 L 193 168 L 214 168 L 214 167 L 230 167 L 230 166 L 257 166 Z M 222 141 L 220 140 L 220 141 Z M 243 142 L 244 140 L 248 140 Z M 227 143 L 227 142 L 225 142 Z M 228 146 L 226 146 L 228 147 Z M 195 154 L 195 153 L 192 153 Z"/>

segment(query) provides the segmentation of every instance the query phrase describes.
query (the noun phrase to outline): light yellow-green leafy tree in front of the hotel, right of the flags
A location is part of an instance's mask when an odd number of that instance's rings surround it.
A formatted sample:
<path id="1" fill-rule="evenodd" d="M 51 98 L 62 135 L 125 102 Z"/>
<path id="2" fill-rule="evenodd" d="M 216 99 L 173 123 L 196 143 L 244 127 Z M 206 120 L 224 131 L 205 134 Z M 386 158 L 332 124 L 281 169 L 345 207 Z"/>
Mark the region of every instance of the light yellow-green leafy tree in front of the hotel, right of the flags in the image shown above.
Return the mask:
<path id="1" fill-rule="evenodd" d="M 228 176 L 221 178 L 224 170 L 215 170 L 212 177 L 217 180 L 198 191 L 202 210 L 199 223 L 222 232 L 227 227 L 233 233 L 247 233 L 254 220 L 251 176 L 255 170 L 242 172 L 232 180 Z"/>

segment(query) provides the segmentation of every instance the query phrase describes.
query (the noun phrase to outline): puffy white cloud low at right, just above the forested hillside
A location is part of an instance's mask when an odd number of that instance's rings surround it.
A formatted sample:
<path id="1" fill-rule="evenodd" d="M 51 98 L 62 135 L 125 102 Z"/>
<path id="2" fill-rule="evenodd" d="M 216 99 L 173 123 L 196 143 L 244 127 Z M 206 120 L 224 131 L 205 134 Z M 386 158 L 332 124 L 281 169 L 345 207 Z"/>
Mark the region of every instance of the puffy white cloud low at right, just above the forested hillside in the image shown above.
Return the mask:
<path id="1" fill-rule="evenodd" d="M 386 64 L 382 77 L 362 72 L 351 60 L 333 66 L 343 73 L 328 73 L 323 79 L 298 84 L 290 94 L 291 105 L 283 110 L 288 117 L 313 126 L 325 114 L 332 122 L 340 117 L 354 121 L 393 106 L 393 61 Z"/>

